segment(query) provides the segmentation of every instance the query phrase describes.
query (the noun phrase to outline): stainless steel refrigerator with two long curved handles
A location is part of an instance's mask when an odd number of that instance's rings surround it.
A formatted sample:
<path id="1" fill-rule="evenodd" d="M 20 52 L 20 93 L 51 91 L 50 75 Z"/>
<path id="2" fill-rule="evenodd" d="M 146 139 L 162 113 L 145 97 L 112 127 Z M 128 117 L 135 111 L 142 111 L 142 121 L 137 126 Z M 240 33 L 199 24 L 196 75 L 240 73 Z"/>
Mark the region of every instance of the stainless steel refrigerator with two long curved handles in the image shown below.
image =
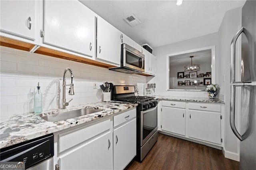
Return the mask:
<path id="1" fill-rule="evenodd" d="M 255 0 L 247 0 L 242 7 L 242 28 L 231 42 L 230 73 L 230 126 L 241 140 L 240 170 L 252 170 L 256 169 Z"/>

